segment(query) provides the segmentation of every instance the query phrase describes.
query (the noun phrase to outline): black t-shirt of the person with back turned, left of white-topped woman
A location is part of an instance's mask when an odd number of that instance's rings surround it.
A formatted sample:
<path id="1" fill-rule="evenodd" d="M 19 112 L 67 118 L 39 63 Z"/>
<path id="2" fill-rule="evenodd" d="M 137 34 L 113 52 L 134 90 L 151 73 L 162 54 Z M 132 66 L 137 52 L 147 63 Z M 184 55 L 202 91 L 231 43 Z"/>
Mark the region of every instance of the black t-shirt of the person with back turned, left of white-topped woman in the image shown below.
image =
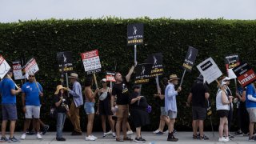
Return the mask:
<path id="1" fill-rule="evenodd" d="M 205 93 L 209 93 L 209 88 L 203 83 L 194 83 L 190 93 L 192 93 L 192 106 L 206 107 Z"/>

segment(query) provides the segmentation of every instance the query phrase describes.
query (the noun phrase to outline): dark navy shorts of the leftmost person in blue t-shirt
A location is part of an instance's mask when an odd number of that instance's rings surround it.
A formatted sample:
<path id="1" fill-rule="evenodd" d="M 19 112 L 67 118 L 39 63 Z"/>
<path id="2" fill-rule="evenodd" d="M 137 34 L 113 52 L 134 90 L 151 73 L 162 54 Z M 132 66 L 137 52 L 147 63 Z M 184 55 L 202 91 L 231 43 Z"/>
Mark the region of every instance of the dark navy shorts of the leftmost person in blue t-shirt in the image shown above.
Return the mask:
<path id="1" fill-rule="evenodd" d="M 2 104 L 2 120 L 16 121 L 17 119 L 16 104 Z"/>

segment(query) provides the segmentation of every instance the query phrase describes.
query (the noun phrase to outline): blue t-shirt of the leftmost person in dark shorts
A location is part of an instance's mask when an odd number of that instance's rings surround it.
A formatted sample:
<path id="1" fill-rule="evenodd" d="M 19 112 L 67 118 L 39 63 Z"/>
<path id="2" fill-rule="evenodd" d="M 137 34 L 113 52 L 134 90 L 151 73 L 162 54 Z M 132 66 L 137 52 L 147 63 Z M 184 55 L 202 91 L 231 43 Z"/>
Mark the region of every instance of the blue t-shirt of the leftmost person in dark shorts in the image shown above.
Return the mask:
<path id="1" fill-rule="evenodd" d="M 15 90 L 15 84 L 10 78 L 3 78 L 0 82 L 0 93 L 2 95 L 2 104 L 16 103 L 16 95 L 11 94 L 10 90 Z"/>

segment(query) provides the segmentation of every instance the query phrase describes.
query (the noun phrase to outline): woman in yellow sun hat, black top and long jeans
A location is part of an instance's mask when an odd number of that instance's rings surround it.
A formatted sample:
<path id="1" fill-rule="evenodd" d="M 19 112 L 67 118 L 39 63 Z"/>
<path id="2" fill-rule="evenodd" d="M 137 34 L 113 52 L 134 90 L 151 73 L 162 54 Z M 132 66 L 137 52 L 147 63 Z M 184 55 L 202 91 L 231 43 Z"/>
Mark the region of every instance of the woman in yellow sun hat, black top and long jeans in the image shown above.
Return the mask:
<path id="1" fill-rule="evenodd" d="M 64 99 L 64 87 L 62 85 L 57 86 L 57 90 L 55 91 L 54 95 L 54 105 L 56 106 L 57 110 L 57 134 L 56 140 L 57 141 L 66 141 L 66 138 L 62 137 L 62 130 L 66 120 L 66 113 L 68 112 L 69 108 L 66 104 Z"/>

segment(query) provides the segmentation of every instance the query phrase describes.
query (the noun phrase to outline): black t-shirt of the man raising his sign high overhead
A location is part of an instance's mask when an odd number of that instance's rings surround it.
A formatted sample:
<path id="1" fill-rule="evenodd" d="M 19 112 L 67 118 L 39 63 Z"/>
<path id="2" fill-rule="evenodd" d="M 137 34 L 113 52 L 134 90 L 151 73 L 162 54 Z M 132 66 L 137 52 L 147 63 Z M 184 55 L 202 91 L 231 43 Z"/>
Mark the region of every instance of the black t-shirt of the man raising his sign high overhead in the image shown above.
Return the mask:
<path id="1" fill-rule="evenodd" d="M 126 78 L 122 83 L 115 83 L 112 90 L 112 95 L 117 95 L 117 105 L 127 105 L 129 103 L 129 91 L 127 88 L 128 82 Z"/>

